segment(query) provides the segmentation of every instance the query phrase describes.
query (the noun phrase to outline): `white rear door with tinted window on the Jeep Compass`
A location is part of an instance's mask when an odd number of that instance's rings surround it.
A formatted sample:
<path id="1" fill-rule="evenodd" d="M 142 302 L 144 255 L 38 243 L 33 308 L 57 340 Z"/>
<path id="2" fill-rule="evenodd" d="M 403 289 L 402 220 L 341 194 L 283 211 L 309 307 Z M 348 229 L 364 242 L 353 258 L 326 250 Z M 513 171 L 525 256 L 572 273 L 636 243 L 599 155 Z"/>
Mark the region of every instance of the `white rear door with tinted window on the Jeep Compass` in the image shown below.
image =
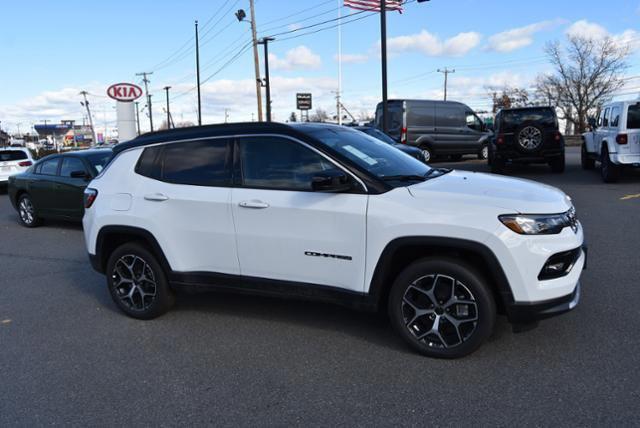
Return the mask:
<path id="1" fill-rule="evenodd" d="M 229 139 L 147 147 L 136 173 L 133 204 L 174 271 L 239 274 Z"/>

